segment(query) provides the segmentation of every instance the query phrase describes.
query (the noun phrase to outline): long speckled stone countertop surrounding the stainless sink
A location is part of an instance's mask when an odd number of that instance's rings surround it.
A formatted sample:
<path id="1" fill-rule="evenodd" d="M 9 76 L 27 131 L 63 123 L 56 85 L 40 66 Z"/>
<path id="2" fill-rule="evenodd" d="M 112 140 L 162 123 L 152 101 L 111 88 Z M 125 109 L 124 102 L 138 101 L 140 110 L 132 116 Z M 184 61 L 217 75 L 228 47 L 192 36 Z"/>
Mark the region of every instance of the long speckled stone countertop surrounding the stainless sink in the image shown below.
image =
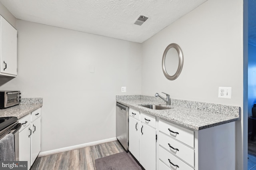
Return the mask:
<path id="1" fill-rule="evenodd" d="M 201 130 L 240 120 L 240 107 L 171 99 L 167 106 L 158 97 L 116 96 L 116 102 L 179 125 Z M 153 110 L 141 105 L 163 105 L 172 109 Z"/>

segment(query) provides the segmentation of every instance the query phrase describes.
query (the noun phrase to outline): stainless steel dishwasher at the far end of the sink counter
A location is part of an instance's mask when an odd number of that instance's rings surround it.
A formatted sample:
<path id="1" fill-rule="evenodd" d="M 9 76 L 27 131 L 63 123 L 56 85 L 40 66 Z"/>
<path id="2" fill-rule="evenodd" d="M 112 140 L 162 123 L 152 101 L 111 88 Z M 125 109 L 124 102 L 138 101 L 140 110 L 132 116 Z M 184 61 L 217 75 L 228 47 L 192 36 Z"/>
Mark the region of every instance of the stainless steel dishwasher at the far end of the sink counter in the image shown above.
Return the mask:
<path id="1" fill-rule="evenodd" d="M 116 138 L 128 152 L 129 150 L 129 107 L 116 103 Z"/>

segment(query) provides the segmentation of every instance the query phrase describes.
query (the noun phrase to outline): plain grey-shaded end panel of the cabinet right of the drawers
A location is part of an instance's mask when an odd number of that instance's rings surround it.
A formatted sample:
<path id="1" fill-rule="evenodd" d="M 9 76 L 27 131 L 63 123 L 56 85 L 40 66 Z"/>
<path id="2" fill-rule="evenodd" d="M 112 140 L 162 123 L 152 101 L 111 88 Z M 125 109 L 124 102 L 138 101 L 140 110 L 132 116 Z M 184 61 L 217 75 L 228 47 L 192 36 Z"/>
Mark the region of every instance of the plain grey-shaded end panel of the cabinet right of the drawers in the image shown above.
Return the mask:
<path id="1" fill-rule="evenodd" d="M 235 170 L 235 122 L 195 132 L 196 170 Z"/>

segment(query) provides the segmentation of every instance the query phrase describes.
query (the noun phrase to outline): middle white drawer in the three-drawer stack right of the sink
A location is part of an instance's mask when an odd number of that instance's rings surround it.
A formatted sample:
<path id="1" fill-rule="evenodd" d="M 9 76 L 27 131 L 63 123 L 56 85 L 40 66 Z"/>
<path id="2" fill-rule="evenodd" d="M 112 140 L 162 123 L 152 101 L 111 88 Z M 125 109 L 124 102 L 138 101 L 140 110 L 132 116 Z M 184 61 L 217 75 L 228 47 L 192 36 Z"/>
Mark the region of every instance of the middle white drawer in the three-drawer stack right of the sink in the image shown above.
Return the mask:
<path id="1" fill-rule="evenodd" d="M 172 154 L 178 156 L 191 166 L 194 166 L 194 150 L 185 146 L 184 144 L 166 136 L 165 134 L 159 133 L 159 144 L 166 148 Z"/>

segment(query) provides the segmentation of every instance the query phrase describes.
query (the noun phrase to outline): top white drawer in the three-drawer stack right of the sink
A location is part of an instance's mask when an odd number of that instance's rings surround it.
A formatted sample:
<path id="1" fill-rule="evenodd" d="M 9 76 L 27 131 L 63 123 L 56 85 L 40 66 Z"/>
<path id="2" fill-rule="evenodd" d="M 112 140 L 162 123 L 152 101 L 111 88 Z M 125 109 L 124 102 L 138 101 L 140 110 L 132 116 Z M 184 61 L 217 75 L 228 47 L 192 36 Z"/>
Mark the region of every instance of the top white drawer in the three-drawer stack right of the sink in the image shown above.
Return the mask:
<path id="1" fill-rule="evenodd" d="M 159 120 L 159 131 L 194 148 L 194 131 Z"/>

